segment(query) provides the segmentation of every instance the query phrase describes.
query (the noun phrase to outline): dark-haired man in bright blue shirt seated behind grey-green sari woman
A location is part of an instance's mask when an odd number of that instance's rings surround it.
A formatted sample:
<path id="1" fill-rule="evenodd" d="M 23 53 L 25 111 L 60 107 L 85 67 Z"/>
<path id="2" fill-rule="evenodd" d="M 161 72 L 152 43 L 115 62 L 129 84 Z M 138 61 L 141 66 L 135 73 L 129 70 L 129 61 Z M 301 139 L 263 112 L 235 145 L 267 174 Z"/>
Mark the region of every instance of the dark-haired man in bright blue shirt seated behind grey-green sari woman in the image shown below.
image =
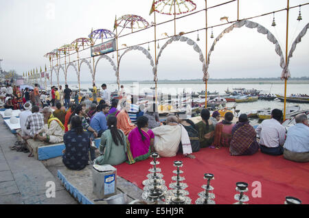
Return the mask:
<path id="1" fill-rule="evenodd" d="M 98 106 L 99 112 L 90 121 L 90 126 L 98 132 L 98 137 L 101 137 L 102 133 L 107 130 L 105 113 L 108 113 L 108 110 L 109 106 L 107 104 L 100 104 Z"/>

